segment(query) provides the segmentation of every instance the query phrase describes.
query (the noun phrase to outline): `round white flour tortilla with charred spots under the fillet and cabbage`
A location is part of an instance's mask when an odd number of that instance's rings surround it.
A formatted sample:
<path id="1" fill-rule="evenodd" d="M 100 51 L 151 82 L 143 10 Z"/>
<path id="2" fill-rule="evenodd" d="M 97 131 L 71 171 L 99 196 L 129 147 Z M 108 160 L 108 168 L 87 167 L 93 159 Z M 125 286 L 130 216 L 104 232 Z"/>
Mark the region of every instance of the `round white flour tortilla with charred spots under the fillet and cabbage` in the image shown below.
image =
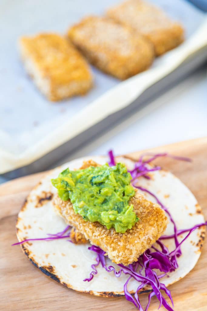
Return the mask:
<path id="1" fill-rule="evenodd" d="M 56 178 L 65 168 L 77 169 L 83 160 L 92 159 L 105 164 L 106 157 L 85 157 L 73 160 L 50 171 L 40 183 L 31 191 L 24 206 L 19 212 L 16 232 L 19 241 L 24 239 L 45 238 L 47 234 L 55 234 L 65 229 L 65 221 L 57 216 L 53 210 L 52 197 L 56 188 L 51 184 L 51 178 Z M 123 162 L 130 169 L 134 163 L 124 157 L 117 157 L 116 161 Z M 151 174 L 152 179 L 139 178 L 139 185 L 148 188 L 163 204 L 169 208 L 178 230 L 187 229 L 204 222 L 201 209 L 190 190 L 173 174 L 167 171 L 156 171 Z M 144 196 L 155 202 L 153 197 L 143 193 Z M 173 234 L 173 225 L 169 223 L 165 234 Z M 182 238 L 185 234 L 182 235 Z M 193 269 L 201 253 L 205 237 L 205 227 L 195 230 L 182 244 L 182 256 L 178 258 L 179 267 L 175 272 L 164 277 L 162 283 L 166 286 L 175 283 Z M 180 238 L 181 239 L 181 238 Z M 169 250 L 174 249 L 173 240 L 165 240 Z M 122 296 L 124 283 L 128 276 L 116 278 L 113 273 L 106 272 L 98 267 L 98 274 L 92 281 L 83 282 L 89 276 L 91 265 L 95 263 L 96 254 L 88 250 L 89 243 L 76 245 L 60 239 L 54 241 L 32 241 L 21 245 L 22 250 L 34 265 L 54 280 L 79 292 L 90 293 L 97 296 Z M 107 259 L 107 264 L 111 264 Z M 113 266 L 116 266 L 113 263 Z M 119 267 L 117 266 L 117 269 Z M 128 290 L 133 293 L 137 289 L 137 282 L 133 279 L 128 284 Z M 142 292 L 150 290 L 146 286 Z"/>

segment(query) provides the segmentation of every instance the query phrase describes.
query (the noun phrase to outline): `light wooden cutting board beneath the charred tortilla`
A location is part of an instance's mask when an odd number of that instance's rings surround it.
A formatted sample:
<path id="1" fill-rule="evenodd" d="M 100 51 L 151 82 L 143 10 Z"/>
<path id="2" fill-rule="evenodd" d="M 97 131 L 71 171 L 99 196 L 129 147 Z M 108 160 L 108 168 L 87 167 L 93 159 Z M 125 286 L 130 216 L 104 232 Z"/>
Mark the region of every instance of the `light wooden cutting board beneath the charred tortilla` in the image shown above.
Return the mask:
<path id="1" fill-rule="evenodd" d="M 193 159 L 193 163 L 187 163 L 162 158 L 157 163 L 164 169 L 171 170 L 190 188 L 207 219 L 207 137 L 151 151 L 168 151 Z M 140 152 L 134 152 L 128 156 L 137 159 L 139 154 Z M 17 241 L 17 213 L 25 197 L 43 174 L 45 173 L 29 175 L 0 186 L 0 310 L 136 310 L 125 298 L 100 298 L 63 287 L 34 267 L 19 246 L 11 247 Z M 207 310 L 207 242 L 204 243 L 193 271 L 169 289 L 175 311 Z M 146 304 L 146 295 L 142 295 L 141 302 Z M 157 308 L 157 300 L 152 299 L 149 310 L 155 311 Z"/>

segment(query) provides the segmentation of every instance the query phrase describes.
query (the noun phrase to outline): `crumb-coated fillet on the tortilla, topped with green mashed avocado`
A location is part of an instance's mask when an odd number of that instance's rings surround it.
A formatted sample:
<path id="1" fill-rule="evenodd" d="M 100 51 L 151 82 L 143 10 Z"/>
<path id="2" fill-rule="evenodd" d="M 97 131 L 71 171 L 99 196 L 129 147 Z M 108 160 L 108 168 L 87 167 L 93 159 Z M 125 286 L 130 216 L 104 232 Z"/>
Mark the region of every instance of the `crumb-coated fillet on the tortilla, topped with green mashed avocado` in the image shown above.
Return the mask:
<path id="1" fill-rule="evenodd" d="M 87 162 L 84 163 L 84 168 L 86 165 Z M 90 165 L 89 161 L 88 166 Z M 159 239 L 168 223 L 165 212 L 160 206 L 147 201 L 137 191 L 129 204 L 133 204 L 140 220 L 123 234 L 117 233 L 114 228 L 108 230 L 98 222 L 85 221 L 82 216 L 75 214 L 70 200 L 62 201 L 56 195 L 53 204 L 57 214 L 63 217 L 67 224 L 75 227 L 91 244 L 103 249 L 112 262 L 124 265 L 137 261 L 137 258 Z"/>

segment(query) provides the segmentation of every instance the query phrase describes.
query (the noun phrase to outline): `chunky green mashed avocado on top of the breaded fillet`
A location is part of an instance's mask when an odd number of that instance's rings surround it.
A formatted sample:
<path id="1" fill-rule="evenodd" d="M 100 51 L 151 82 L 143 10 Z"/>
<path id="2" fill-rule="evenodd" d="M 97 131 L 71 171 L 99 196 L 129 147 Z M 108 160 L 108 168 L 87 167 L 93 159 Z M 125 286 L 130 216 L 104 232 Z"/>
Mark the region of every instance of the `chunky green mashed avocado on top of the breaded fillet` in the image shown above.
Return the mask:
<path id="1" fill-rule="evenodd" d="M 118 163 L 112 167 L 105 164 L 76 171 L 65 169 L 52 179 L 52 184 L 63 201 L 70 199 L 75 213 L 84 220 L 98 221 L 107 229 L 114 227 L 124 233 L 138 220 L 133 205 L 128 204 L 135 194 L 131 179 L 126 166 Z"/>

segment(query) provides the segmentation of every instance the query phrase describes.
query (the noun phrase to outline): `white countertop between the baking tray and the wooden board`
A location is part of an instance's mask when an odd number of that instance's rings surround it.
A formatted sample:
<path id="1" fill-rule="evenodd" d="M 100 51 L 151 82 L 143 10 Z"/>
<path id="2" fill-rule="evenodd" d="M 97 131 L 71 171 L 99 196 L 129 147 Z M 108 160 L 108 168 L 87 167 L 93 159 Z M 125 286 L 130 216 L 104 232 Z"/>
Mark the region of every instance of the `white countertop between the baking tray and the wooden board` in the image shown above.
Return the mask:
<path id="1" fill-rule="evenodd" d="M 87 155 L 115 154 L 207 136 L 206 65 L 146 108 L 123 120 L 54 166 Z M 6 181 L 0 177 L 0 183 Z"/>

